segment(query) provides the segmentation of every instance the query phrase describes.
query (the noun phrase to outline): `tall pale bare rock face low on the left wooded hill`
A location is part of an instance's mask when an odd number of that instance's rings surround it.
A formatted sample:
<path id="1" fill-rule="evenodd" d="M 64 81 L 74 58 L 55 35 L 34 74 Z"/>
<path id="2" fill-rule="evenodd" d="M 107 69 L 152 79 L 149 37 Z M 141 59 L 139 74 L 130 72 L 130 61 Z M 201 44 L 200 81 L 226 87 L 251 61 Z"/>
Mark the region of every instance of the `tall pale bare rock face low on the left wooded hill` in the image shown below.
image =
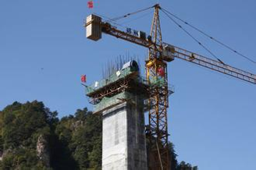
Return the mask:
<path id="1" fill-rule="evenodd" d="M 46 167 L 50 167 L 50 151 L 48 140 L 43 135 L 40 135 L 37 139 L 37 157 Z"/>

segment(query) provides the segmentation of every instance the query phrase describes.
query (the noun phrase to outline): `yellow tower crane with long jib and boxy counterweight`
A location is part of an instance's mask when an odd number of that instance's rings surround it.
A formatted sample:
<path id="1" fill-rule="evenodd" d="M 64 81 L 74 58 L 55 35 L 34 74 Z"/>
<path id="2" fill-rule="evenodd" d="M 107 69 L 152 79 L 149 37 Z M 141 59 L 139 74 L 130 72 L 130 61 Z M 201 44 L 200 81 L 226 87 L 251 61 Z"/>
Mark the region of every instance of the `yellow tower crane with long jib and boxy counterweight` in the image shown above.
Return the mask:
<path id="1" fill-rule="evenodd" d="M 150 36 L 142 31 L 138 34 L 130 34 L 129 31 L 119 30 L 112 26 L 109 22 L 101 20 L 100 16 L 92 14 L 87 16 L 85 27 L 87 28 L 87 38 L 98 41 L 101 39 L 101 33 L 112 35 L 130 41 L 148 48 L 148 59 L 145 61 L 146 77 L 148 82 L 151 80 L 164 80 L 161 87 L 153 87 L 150 91 L 148 99 L 148 138 L 150 141 L 149 161 L 154 162 L 154 166 L 149 166 L 150 169 L 169 169 L 169 143 L 167 129 L 167 108 L 169 108 L 169 87 L 167 62 L 172 62 L 175 58 L 182 59 L 187 62 L 192 62 L 199 66 L 212 69 L 219 73 L 224 73 L 233 76 L 237 79 L 256 84 L 256 75 L 242 69 L 236 69 L 233 66 L 226 65 L 220 59 L 214 60 L 194 52 L 187 51 L 183 48 L 176 47 L 172 44 L 162 42 L 162 33 L 159 19 L 160 5 L 156 4 L 154 17 L 151 23 Z"/>

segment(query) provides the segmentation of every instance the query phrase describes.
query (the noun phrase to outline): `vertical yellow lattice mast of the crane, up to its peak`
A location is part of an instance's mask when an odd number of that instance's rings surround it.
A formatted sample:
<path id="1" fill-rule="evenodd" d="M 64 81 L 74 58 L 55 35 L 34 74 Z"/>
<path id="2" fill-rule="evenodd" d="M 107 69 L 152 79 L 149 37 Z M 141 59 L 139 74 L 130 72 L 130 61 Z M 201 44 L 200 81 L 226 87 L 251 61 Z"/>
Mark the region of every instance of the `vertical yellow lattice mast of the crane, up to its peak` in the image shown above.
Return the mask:
<path id="1" fill-rule="evenodd" d="M 150 141 L 149 163 L 151 169 L 169 169 L 169 148 L 167 128 L 167 108 L 169 107 L 169 90 L 167 63 L 162 59 L 162 33 L 159 19 L 160 6 L 155 5 L 155 13 L 151 23 L 151 48 L 146 61 L 146 77 L 148 82 L 162 80 L 162 86 L 150 89 L 148 99 L 148 138 Z M 155 45 L 157 44 L 157 45 Z"/>

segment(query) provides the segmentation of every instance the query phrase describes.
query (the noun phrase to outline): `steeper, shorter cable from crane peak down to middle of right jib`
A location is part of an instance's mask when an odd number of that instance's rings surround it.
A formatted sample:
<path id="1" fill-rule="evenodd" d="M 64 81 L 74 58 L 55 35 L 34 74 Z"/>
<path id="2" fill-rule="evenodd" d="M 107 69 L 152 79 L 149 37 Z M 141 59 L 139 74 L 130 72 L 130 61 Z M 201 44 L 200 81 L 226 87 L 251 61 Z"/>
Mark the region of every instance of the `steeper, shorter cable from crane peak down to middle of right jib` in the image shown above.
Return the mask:
<path id="1" fill-rule="evenodd" d="M 172 20 L 173 23 L 175 23 L 178 27 L 180 27 L 181 30 L 183 30 L 187 35 L 189 35 L 194 41 L 197 42 L 197 44 L 199 44 L 202 48 L 204 48 L 204 50 L 208 51 L 208 53 L 210 55 L 212 55 L 214 58 L 216 58 L 219 62 L 221 62 L 223 65 L 226 65 L 224 62 L 222 62 L 222 60 L 220 58 L 218 58 L 212 51 L 210 51 L 204 44 L 202 44 L 200 41 L 197 40 L 197 38 L 195 38 L 192 34 L 190 34 L 185 28 L 183 28 L 179 23 L 176 22 L 175 19 L 172 18 L 172 16 L 170 16 L 167 12 L 165 12 L 164 10 L 162 10 L 162 12 L 165 13 L 165 15 Z"/>

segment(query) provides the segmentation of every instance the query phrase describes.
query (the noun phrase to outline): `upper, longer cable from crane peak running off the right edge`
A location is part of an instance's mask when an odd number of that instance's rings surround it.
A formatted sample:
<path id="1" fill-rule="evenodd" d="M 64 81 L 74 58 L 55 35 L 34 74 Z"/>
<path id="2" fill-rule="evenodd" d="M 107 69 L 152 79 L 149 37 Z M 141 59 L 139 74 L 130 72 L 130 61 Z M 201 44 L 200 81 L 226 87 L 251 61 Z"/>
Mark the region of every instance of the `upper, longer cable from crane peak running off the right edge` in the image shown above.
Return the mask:
<path id="1" fill-rule="evenodd" d="M 236 51 L 235 49 L 231 48 L 229 45 L 222 43 L 221 41 L 219 41 L 219 40 L 216 39 L 215 37 L 210 36 L 209 34 L 206 34 L 203 30 L 201 30 L 201 29 L 199 29 L 199 28 L 197 28 L 197 27 L 194 27 L 192 24 L 187 23 L 187 22 L 186 22 L 185 20 L 183 20 L 183 19 L 180 19 L 180 17 L 174 15 L 172 12 L 169 12 L 168 10 L 163 9 L 163 8 L 162 8 L 162 11 L 163 11 L 163 12 L 165 11 L 165 12 L 169 13 L 169 15 L 171 15 L 171 16 L 173 16 L 174 18 L 180 20 L 182 23 L 185 23 L 187 26 L 193 28 L 194 30 L 197 30 L 199 33 L 203 34 L 205 37 L 208 37 L 208 38 L 210 38 L 212 41 L 215 41 L 216 43 L 222 45 L 223 47 L 229 49 L 230 51 L 233 51 L 234 53 L 236 53 L 236 55 L 240 55 L 240 57 L 243 57 L 243 58 L 247 59 L 248 61 L 250 61 L 250 62 L 256 64 L 256 61 L 254 61 L 254 60 L 251 59 L 250 57 L 241 54 L 239 51 Z"/>

